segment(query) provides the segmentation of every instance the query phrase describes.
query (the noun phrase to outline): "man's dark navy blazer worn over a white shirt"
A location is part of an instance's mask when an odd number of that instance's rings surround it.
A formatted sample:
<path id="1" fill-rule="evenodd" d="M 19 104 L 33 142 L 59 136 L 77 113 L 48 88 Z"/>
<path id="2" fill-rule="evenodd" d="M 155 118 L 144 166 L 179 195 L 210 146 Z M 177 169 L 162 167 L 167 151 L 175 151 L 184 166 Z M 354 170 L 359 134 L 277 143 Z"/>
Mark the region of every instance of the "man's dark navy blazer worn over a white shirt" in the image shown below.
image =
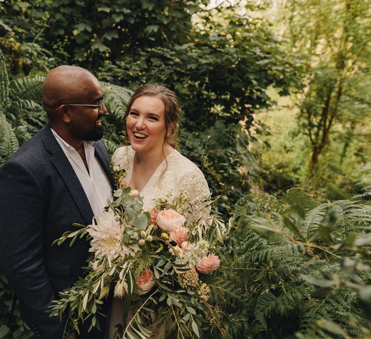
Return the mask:
<path id="1" fill-rule="evenodd" d="M 107 149 L 102 141 L 93 146 L 113 189 Z M 19 299 L 21 317 L 40 337 L 62 338 L 66 319 L 61 322 L 45 311 L 59 291 L 83 274 L 90 245 L 85 239 L 71 247 L 51 243 L 74 230 L 73 223 L 91 224 L 93 211 L 50 126 L 1 168 L 0 206 L 0 267 Z"/>

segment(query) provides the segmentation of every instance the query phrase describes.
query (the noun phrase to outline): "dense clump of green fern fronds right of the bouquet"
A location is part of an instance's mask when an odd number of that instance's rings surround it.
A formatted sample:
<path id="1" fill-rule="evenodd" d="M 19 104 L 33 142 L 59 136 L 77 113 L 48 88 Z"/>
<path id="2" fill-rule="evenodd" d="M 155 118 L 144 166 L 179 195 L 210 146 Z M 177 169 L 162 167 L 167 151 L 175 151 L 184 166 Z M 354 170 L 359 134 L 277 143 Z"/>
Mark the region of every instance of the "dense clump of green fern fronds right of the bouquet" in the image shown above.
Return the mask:
<path id="1" fill-rule="evenodd" d="M 279 200 L 250 196 L 219 253 L 229 277 L 214 278 L 213 301 L 229 333 L 369 335 L 369 299 L 361 298 L 371 278 L 370 225 L 371 210 L 352 200 L 319 204 L 297 189 Z"/>

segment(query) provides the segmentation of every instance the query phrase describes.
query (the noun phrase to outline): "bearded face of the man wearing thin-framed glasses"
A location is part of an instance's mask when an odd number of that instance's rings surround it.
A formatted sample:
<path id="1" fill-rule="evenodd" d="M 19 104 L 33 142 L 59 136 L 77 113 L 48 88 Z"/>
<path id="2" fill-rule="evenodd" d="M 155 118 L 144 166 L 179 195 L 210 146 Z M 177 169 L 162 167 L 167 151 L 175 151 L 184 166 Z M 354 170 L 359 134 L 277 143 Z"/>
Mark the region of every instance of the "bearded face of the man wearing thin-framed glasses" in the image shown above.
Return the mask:
<path id="1" fill-rule="evenodd" d="M 93 79 L 94 80 L 94 79 Z M 98 105 L 103 98 L 103 91 L 98 80 L 84 79 L 81 84 L 81 95 L 70 104 Z M 78 101 L 78 102 L 77 102 Z M 102 115 L 107 113 L 104 104 L 99 107 L 68 105 L 70 136 L 75 140 L 97 141 L 102 138 Z"/>

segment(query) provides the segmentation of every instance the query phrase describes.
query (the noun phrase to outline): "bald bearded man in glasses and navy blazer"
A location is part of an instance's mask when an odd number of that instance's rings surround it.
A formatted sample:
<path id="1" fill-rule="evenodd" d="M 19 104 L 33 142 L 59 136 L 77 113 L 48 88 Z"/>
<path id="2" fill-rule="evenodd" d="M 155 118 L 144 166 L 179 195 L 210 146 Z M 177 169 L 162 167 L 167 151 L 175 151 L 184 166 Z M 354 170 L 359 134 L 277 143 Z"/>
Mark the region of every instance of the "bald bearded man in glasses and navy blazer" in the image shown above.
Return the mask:
<path id="1" fill-rule="evenodd" d="M 46 75 L 42 91 L 49 124 L 0 170 L 0 268 L 26 324 L 41 338 L 62 339 L 67 317 L 45 311 L 83 274 L 89 242 L 51 243 L 73 223 L 91 224 L 115 182 L 100 140 L 107 109 L 98 80 L 83 68 L 60 66 Z M 104 337 L 104 317 L 100 327 L 95 334 L 82 329 L 80 338 Z"/>

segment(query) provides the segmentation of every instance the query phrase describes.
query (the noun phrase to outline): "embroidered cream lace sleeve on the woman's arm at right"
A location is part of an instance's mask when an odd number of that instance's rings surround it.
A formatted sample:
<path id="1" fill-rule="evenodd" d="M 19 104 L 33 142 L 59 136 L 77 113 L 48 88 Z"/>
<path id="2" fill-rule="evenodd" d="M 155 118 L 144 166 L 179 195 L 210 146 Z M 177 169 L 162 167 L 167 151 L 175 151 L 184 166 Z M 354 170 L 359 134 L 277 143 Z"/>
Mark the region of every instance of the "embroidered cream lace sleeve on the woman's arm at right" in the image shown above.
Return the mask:
<path id="1" fill-rule="evenodd" d="M 208 219 L 210 215 L 210 207 L 204 208 L 197 203 L 198 200 L 203 200 L 204 197 L 209 198 L 210 190 L 204 174 L 198 168 L 189 170 L 181 182 L 179 183 L 179 190 L 187 192 L 190 196 L 190 204 L 193 206 L 193 213 L 188 223 L 199 218 L 202 221 Z"/>

